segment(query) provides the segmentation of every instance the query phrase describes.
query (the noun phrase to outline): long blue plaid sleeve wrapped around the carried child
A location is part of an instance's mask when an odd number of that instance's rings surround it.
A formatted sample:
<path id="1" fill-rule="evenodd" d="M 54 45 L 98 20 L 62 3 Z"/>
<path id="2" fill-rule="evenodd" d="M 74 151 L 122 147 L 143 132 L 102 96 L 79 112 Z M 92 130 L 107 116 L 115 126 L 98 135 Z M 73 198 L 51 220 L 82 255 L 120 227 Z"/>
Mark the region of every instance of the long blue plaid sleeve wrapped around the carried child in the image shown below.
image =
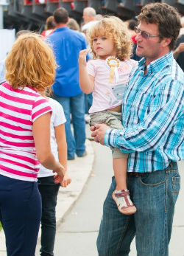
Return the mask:
<path id="1" fill-rule="evenodd" d="M 108 129 L 105 145 L 120 148 L 124 153 L 155 151 L 169 139 L 174 122 L 183 114 L 183 100 L 181 83 L 171 80 L 158 85 L 144 120 L 132 128 Z"/>

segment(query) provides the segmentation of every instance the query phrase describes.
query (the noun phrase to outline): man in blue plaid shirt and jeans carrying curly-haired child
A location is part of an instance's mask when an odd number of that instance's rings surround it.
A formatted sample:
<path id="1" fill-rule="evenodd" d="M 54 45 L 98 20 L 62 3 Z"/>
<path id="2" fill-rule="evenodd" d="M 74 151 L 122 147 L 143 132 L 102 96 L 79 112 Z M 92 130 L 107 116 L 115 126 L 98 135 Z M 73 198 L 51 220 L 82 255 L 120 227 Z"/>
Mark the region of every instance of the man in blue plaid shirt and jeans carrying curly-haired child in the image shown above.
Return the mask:
<path id="1" fill-rule="evenodd" d="M 171 52 L 180 16 L 168 4 L 155 3 L 142 8 L 138 21 L 136 54 L 144 58 L 124 94 L 124 129 L 91 128 L 96 142 L 130 153 L 127 188 L 137 212 L 118 212 L 113 179 L 97 240 L 100 256 L 129 255 L 134 237 L 138 256 L 168 256 L 180 190 L 177 161 L 184 159 L 184 77 Z"/>

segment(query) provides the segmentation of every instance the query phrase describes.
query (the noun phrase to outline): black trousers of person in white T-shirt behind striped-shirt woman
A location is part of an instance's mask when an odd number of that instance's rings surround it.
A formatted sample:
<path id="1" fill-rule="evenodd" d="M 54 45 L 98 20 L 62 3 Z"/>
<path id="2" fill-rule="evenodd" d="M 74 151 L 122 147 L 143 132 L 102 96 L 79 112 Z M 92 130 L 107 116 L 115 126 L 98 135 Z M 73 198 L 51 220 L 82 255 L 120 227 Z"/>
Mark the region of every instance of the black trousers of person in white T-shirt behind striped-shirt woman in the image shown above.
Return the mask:
<path id="1" fill-rule="evenodd" d="M 56 233 L 55 207 L 60 184 L 54 184 L 54 177 L 38 178 L 38 189 L 42 200 L 40 255 L 54 255 Z"/>

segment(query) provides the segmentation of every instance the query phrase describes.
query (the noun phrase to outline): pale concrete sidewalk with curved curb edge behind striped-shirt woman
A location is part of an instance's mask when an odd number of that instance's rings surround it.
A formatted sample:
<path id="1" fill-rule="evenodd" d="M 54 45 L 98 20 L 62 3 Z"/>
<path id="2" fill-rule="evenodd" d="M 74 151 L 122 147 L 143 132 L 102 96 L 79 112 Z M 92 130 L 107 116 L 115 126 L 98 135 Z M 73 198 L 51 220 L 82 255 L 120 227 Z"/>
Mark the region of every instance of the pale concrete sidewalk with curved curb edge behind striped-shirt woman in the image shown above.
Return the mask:
<path id="1" fill-rule="evenodd" d="M 85 141 L 87 155 L 85 157 L 76 157 L 76 159 L 68 161 L 68 174 L 71 177 L 71 184 L 68 187 L 60 187 L 57 195 L 56 222 L 60 225 L 67 212 L 74 205 L 77 198 L 82 193 L 83 187 L 93 169 L 94 151 L 92 142 L 89 139 Z M 40 246 L 40 235 L 38 233 L 38 246 Z M 4 232 L 0 232 L 0 256 L 7 255 L 5 246 Z"/>

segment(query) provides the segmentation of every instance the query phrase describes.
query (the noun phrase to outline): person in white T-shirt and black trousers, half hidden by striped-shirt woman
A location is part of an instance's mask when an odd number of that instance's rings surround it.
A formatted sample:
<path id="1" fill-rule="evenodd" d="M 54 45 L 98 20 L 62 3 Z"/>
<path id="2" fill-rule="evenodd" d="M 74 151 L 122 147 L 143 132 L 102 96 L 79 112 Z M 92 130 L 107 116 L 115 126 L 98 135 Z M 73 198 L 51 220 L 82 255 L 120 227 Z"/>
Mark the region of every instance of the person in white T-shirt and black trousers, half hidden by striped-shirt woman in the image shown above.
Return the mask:
<path id="1" fill-rule="evenodd" d="M 46 97 L 44 91 L 40 91 L 40 94 Z M 60 103 L 50 97 L 46 97 L 46 99 L 52 107 L 50 140 L 52 153 L 66 170 L 61 186 L 67 187 L 71 183 L 71 179 L 67 173 L 66 117 Z M 53 255 L 56 232 L 55 207 L 60 184 L 54 184 L 54 173 L 52 170 L 43 167 L 43 165 L 40 166 L 38 173 L 38 183 L 38 189 L 42 199 L 40 253 L 41 255 Z"/>

